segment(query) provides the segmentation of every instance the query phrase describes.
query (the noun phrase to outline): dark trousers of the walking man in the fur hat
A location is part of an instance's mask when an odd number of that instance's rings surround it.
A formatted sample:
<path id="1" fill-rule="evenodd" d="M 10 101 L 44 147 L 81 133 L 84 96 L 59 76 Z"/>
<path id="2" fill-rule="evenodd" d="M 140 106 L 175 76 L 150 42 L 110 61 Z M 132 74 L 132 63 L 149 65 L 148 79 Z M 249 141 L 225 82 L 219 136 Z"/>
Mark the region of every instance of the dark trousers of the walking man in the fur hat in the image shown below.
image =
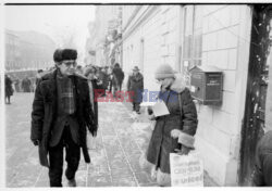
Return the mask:
<path id="1" fill-rule="evenodd" d="M 50 187 L 62 187 L 62 171 L 63 171 L 63 148 L 65 147 L 65 161 L 67 162 L 67 168 L 65 176 L 69 180 L 75 178 L 75 173 L 78 168 L 81 160 L 81 148 L 76 144 L 71 135 L 69 126 L 63 129 L 62 138 L 60 142 L 52 148 L 49 148 L 49 178 Z"/>

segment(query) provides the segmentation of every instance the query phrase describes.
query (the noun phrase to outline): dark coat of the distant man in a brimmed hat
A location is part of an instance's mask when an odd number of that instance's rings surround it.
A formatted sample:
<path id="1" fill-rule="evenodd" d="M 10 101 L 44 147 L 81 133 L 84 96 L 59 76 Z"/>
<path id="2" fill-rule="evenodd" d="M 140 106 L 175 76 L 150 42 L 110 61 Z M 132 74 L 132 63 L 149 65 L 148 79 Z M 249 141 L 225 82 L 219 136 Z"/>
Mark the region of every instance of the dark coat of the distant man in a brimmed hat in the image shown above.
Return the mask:
<path id="1" fill-rule="evenodd" d="M 136 76 L 129 75 L 127 90 L 133 92 L 131 98 L 134 103 L 140 103 L 143 101 L 144 76 L 140 73 Z"/>

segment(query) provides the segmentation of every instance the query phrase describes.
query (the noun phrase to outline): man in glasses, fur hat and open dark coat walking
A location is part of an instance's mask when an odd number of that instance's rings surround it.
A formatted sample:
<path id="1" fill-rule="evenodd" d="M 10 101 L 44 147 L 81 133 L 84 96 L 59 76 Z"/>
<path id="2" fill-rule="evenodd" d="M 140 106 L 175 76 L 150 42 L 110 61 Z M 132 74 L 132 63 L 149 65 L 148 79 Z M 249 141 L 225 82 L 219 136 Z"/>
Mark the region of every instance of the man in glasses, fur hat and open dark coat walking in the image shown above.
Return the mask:
<path id="1" fill-rule="evenodd" d="M 50 187 L 62 187 L 65 148 L 65 176 L 69 186 L 75 187 L 81 149 L 85 162 L 90 163 L 86 127 L 96 136 L 97 126 L 87 79 L 75 73 L 76 50 L 58 49 L 53 59 L 57 69 L 42 76 L 35 91 L 30 139 L 39 147 L 40 164 L 49 167 Z"/>

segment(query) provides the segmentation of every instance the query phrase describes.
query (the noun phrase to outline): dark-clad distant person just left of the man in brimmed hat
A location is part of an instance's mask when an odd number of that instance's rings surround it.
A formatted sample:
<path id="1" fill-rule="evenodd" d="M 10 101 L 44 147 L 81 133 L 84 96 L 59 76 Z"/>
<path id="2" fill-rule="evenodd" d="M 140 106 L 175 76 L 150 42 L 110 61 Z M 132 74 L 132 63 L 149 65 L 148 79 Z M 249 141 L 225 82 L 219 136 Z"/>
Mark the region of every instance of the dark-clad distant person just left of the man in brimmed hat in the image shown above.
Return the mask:
<path id="1" fill-rule="evenodd" d="M 122 84 L 124 80 L 124 72 L 120 67 L 120 64 L 116 63 L 112 69 L 112 86 L 113 86 L 113 96 L 115 97 L 116 91 L 122 90 Z"/>

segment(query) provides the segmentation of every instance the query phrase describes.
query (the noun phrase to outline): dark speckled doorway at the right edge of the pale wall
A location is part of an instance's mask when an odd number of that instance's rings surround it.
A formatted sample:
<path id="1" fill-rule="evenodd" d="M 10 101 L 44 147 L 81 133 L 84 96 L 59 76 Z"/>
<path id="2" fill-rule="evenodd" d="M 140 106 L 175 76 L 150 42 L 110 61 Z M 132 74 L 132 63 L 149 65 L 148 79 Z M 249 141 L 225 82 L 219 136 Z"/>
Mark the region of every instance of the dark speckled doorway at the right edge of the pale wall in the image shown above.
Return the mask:
<path id="1" fill-rule="evenodd" d="M 256 145 L 264 133 L 264 111 L 270 64 L 268 62 L 268 56 L 271 48 L 271 5 L 263 4 L 252 7 L 246 106 L 242 127 L 240 186 L 250 186 L 251 183 Z"/>

